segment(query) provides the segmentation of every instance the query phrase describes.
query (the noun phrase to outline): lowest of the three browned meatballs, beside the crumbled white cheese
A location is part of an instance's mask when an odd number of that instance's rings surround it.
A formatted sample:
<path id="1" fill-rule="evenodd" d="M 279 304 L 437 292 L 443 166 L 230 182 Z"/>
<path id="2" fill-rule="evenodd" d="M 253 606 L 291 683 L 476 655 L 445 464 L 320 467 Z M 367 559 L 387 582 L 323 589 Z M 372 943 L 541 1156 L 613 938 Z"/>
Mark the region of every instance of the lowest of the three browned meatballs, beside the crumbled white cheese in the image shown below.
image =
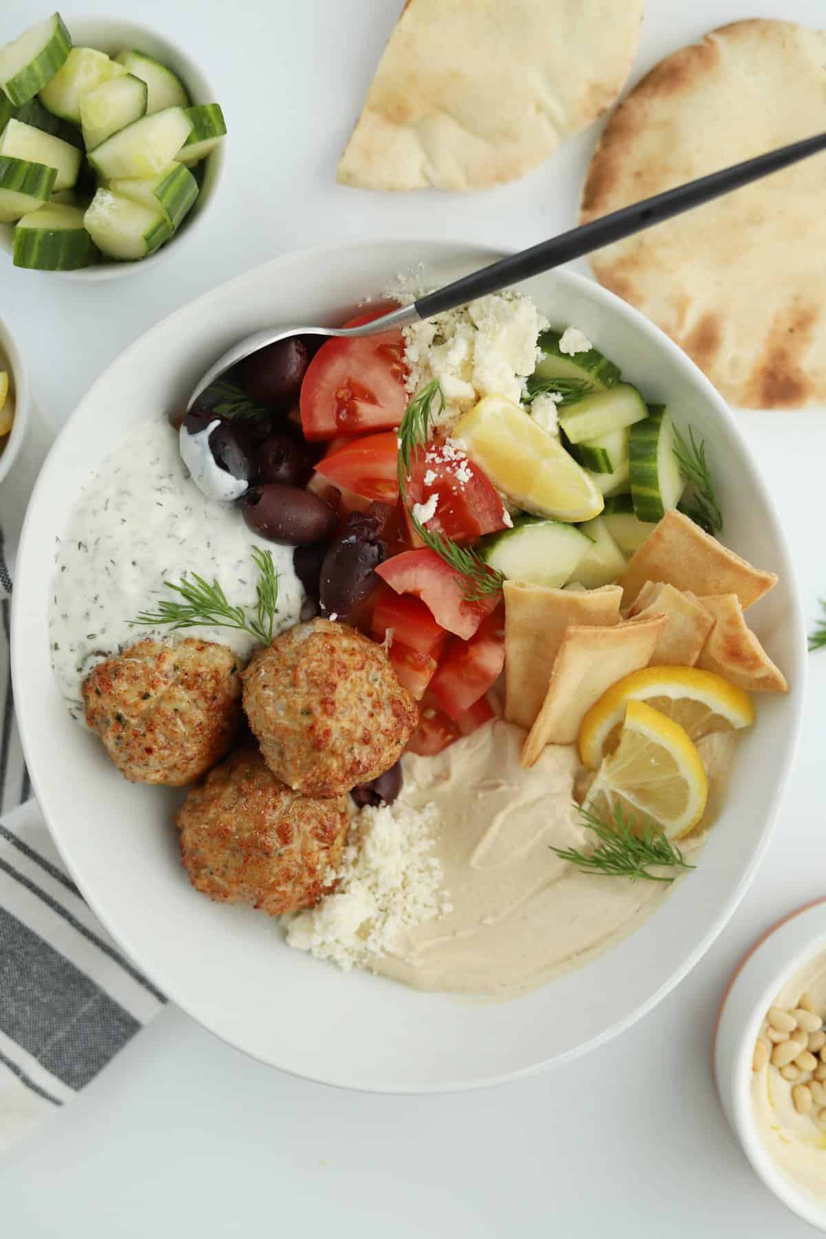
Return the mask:
<path id="1" fill-rule="evenodd" d="M 175 819 L 181 860 L 211 900 L 271 917 L 311 908 L 341 861 L 347 810 L 346 797 L 316 800 L 279 783 L 246 745 L 187 794 Z"/>

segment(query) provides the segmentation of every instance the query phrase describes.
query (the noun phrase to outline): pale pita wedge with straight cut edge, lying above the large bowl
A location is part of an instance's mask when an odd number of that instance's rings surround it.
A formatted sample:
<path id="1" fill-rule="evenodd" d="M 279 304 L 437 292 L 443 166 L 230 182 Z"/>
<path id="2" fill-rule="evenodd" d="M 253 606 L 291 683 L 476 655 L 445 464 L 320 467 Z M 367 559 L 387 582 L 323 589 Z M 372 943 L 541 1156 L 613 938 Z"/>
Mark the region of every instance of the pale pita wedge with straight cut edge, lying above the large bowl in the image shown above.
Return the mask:
<path id="1" fill-rule="evenodd" d="M 614 102 L 643 0 L 407 0 L 338 165 L 364 190 L 524 176 Z"/>

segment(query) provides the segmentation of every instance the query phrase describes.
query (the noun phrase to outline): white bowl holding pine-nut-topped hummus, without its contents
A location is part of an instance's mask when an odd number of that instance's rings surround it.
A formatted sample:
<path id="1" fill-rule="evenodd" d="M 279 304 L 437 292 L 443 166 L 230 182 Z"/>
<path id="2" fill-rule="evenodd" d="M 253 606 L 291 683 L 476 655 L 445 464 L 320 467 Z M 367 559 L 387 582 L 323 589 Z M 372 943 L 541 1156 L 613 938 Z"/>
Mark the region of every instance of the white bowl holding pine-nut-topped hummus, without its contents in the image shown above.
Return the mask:
<path id="1" fill-rule="evenodd" d="M 820 1230 L 826 1230 L 826 1196 L 817 1201 L 798 1187 L 765 1149 L 753 1119 L 750 1082 L 754 1042 L 765 1012 L 786 981 L 824 950 L 826 900 L 819 900 L 769 929 L 739 964 L 723 997 L 715 1037 L 717 1092 L 743 1152 L 769 1191 Z"/>

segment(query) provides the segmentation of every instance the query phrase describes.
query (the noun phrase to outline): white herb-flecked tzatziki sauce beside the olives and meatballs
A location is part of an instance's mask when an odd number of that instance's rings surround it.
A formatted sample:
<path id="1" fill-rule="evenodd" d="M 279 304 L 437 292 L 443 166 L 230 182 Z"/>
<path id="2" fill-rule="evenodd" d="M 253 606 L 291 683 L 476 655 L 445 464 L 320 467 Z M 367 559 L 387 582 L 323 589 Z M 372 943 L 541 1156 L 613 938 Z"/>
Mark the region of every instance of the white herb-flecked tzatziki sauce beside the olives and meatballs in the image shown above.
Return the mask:
<path id="1" fill-rule="evenodd" d="M 165 581 L 177 584 L 185 572 L 217 580 L 232 606 L 254 607 L 254 546 L 272 554 L 275 628 L 284 632 L 298 622 L 305 600 L 292 546 L 259 538 L 239 507 L 208 499 L 189 477 L 167 420 L 141 419 L 85 483 L 57 540 L 48 639 L 72 716 L 83 722 L 80 685 L 92 668 L 144 637 L 215 641 L 246 658 L 255 639 L 238 628 L 173 631 L 133 621 L 141 611 L 157 611 L 162 598 L 175 600 Z"/>

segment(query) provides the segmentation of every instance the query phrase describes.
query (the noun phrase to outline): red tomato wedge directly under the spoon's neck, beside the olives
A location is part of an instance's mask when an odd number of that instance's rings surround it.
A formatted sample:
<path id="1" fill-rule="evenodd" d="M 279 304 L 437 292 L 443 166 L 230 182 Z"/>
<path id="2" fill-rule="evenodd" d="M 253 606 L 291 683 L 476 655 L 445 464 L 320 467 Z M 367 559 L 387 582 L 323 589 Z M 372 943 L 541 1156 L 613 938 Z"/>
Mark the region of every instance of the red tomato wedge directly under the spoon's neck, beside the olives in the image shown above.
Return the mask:
<path id="1" fill-rule="evenodd" d="M 352 318 L 358 327 L 386 313 L 384 305 Z M 310 440 L 390 430 L 407 406 L 404 337 L 383 331 L 364 339 L 328 339 L 322 344 L 301 384 L 301 427 Z"/>

